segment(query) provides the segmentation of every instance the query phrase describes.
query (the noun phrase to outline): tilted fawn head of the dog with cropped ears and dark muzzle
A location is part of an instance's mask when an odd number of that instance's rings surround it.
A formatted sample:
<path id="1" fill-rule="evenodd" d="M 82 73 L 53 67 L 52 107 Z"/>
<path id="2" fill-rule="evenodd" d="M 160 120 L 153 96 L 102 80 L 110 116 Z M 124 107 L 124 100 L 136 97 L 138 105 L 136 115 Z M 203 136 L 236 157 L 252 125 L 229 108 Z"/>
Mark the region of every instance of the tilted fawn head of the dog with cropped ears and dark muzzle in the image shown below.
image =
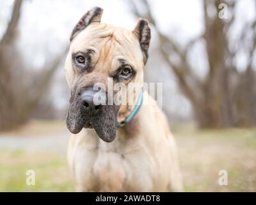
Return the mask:
<path id="1" fill-rule="evenodd" d="M 65 61 L 65 76 L 71 89 L 67 127 L 74 134 L 83 127 L 94 128 L 102 140 L 111 142 L 118 114 L 128 108 L 128 95 L 133 94 L 128 83 L 142 86 L 150 29 L 143 19 L 139 19 L 133 31 L 103 24 L 102 13 L 98 7 L 85 13 L 70 38 Z M 115 85 L 127 89 L 120 92 L 119 87 L 110 94 L 109 87 Z M 121 105 L 113 102 L 117 92 L 121 94 Z"/>

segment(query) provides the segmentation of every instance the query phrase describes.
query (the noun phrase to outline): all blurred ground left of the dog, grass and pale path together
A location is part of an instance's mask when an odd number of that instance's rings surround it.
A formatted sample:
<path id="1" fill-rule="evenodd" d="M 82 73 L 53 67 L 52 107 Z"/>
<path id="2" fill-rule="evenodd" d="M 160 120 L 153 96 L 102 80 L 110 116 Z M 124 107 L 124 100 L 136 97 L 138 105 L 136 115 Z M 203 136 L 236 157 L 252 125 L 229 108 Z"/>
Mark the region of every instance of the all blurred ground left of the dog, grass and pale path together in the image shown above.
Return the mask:
<path id="1" fill-rule="evenodd" d="M 65 152 L 68 136 L 63 122 L 33 121 L 1 133 L 0 192 L 73 192 Z M 35 171 L 34 186 L 26 184 L 27 170 Z"/>

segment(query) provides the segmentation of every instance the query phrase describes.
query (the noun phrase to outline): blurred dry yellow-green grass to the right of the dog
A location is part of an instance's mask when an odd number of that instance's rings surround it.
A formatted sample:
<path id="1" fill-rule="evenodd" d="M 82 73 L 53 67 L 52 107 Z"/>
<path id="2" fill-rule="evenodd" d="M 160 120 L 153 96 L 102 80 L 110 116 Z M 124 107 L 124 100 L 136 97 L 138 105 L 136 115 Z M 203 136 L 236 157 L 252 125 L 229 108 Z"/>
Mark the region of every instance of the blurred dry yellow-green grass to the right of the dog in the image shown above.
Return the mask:
<path id="1" fill-rule="evenodd" d="M 173 127 L 187 192 L 255 192 L 256 129 Z M 228 185 L 218 184 L 219 170 Z"/>

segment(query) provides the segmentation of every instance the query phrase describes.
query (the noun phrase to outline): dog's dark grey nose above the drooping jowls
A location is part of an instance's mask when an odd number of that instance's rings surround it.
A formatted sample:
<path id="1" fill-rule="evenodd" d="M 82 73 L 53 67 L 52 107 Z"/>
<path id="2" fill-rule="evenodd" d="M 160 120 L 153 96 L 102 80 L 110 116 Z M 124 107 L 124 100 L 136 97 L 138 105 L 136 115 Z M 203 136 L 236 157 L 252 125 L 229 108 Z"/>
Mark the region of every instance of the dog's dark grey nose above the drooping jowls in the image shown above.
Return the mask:
<path id="1" fill-rule="evenodd" d="M 84 108 L 86 108 L 91 114 L 94 113 L 96 110 L 101 108 L 101 104 L 94 104 L 94 96 L 96 95 L 96 91 L 92 90 L 92 88 L 86 88 L 83 92 L 80 93 L 81 95 L 81 104 Z"/>

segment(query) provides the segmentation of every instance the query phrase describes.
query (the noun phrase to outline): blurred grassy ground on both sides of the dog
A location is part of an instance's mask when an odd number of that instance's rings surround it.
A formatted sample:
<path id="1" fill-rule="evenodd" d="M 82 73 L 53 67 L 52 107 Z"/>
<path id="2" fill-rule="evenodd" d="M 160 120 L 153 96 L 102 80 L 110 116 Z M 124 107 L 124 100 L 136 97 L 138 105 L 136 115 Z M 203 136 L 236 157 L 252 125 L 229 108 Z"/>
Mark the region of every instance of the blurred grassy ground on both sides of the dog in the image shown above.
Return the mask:
<path id="1" fill-rule="evenodd" d="M 172 130 L 178 143 L 185 191 L 256 191 L 256 129 L 200 131 L 185 125 L 175 126 Z M 65 155 L 67 133 L 62 135 L 63 131 L 65 125 L 62 123 L 32 122 L 19 131 L 1 134 L 0 191 L 74 191 Z M 59 141 L 49 141 L 57 137 Z M 35 139 L 38 138 L 42 147 L 42 139 L 46 139 L 46 144 L 51 143 L 51 146 L 44 147 L 47 149 L 36 146 L 28 149 L 25 143 L 20 147 L 10 147 L 6 143 L 9 138 L 14 138 L 17 145 L 21 144 L 23 138 L 28 143 L 31 138 L 33 143 L 37 143 Z M 26 184 L 27 170 L 35 171 L 35 186 Z M 228 172 L 227 186 L 219 186 L 219 170 Z"/>

